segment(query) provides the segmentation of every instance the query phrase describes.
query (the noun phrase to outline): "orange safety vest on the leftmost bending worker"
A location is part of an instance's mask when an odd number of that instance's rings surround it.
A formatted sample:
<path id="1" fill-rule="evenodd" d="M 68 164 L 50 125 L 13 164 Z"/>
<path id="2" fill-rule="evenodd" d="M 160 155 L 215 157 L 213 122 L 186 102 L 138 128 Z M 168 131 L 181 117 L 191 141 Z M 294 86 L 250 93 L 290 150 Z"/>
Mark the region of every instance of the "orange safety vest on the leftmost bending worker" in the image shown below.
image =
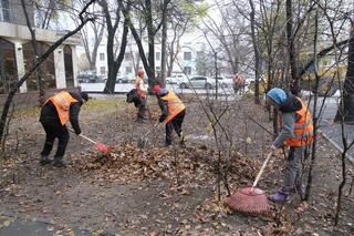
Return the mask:
<path id="1" fill-rule="evenodd" d="M 62 124 L 62 125 L 66 124 L 66 122 L 69 121 L 70 105 L 71 105 L 71 103 L 73 103 L 73 102 L 77 102 L 77 100 L 75 100 L 74 98 L 72 98 L 69 92 L 66 92 L 66 91 L 61 91 L 61 92 L 59 92 L 56 95 L 53 95 L 53 96 L 49 98 L 49 99 L 45 101 L 44 105 L 45 105 L 49 101 L 51 101 L 51 102 L 54 104 L 61 124 Z"/>

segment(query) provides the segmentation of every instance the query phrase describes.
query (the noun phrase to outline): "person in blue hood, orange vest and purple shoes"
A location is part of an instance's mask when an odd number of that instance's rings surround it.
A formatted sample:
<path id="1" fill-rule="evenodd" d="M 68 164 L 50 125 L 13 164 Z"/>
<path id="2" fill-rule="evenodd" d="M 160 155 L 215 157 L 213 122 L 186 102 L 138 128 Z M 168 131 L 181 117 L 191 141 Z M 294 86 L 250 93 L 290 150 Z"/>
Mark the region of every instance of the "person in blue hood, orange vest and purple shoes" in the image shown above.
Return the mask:
<path id="1" fill-rule="evenodd" d="M 304 186 L 301 183 L 301 161 L 305 154 L 305 147 L 313 138 L 311 112 L 300 98 L 278 88 L 271 89 L 267 93 L 266 104 L 273 105 L 281 112 L 282 130 L 273 141 L 271 148 L 275 151 L 289 146 L 283 186 L 275 194 L 270 195 L 269 199 L 275 203 L 284 203 L 289 199 L 290 192 L 293 189 L 303 198 Z"/>

